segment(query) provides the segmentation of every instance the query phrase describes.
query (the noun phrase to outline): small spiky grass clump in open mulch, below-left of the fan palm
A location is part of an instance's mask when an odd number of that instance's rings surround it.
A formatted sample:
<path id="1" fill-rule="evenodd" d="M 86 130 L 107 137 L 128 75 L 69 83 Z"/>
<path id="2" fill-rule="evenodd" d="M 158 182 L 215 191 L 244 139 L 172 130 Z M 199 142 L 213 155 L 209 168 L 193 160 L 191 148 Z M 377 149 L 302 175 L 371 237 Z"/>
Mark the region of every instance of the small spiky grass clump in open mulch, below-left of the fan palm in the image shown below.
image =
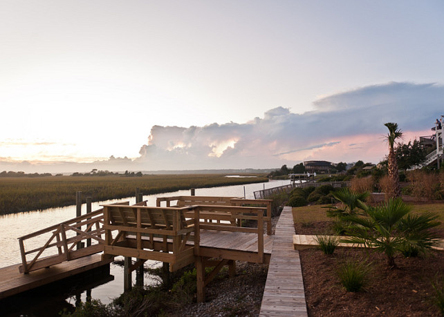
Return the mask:
<path id="1" fill-rule="evenodd" d="M 342 286 L 346 291 L 360 291 L 369 282 L 371 262 L 367 260 L 346 260 L 337 271 Z"/>

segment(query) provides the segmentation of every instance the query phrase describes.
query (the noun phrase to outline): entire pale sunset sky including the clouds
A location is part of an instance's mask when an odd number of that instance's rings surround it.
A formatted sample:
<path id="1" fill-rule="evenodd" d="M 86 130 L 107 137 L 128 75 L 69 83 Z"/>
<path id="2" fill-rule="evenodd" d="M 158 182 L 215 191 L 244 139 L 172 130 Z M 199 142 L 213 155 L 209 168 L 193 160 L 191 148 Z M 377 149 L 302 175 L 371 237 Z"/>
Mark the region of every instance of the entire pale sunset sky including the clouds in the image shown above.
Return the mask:
<path id="1" fill-rule="evenodd" d="M 0 0 L 0 170 L 378 163 L 444 115 L 444 2 Z"/>

